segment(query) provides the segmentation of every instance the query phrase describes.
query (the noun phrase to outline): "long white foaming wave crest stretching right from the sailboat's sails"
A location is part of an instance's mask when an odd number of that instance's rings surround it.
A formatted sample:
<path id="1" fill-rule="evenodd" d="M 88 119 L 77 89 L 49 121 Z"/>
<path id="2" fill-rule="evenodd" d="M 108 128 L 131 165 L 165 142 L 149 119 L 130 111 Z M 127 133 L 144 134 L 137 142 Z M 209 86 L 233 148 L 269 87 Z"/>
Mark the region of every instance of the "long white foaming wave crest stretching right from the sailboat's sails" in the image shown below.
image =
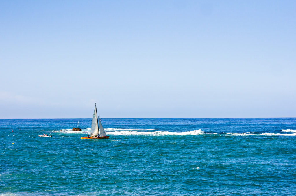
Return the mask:
<path id="1" fill-rule="evenodd" d="M 108 135 L 201 135 L 204 132 L 202 130 L 194 130 L 187 132 L 168 132 L 168 131 L 154 131 L 154 132 L 141 132 L 141 131 L 114 131 L 107 132 Z"/>

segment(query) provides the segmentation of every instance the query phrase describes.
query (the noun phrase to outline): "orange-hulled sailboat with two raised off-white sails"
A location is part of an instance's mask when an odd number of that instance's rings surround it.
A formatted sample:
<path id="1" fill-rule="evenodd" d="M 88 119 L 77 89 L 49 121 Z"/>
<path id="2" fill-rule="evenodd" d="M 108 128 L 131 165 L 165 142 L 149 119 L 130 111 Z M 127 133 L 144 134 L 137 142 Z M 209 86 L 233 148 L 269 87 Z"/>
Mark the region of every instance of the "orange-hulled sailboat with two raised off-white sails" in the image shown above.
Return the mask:
<path id="1" fill-rule="evenodd" d="M 99 129 L 100 126 L 100 129 Z M 108 139 L 105 130 L 102 126 L 101 119 L 98 120 L 98 114 L 96 112 L 96 105 L 94 107 L 93 121 L 91 123 L 91 135 L 89 137 L 81 137 L 81 139 Z"/>

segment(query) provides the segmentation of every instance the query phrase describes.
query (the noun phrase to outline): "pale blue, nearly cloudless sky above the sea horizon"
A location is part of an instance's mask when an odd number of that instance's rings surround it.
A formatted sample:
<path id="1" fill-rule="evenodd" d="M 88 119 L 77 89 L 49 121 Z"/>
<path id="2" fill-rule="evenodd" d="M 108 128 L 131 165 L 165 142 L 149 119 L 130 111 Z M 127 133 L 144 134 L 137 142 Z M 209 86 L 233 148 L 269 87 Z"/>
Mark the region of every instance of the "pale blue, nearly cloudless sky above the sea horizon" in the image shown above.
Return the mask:
<path id="1" fill-rule="evenodd" d="M 0 118 L 296 117 L 296 1 L 0 0 Z"/>

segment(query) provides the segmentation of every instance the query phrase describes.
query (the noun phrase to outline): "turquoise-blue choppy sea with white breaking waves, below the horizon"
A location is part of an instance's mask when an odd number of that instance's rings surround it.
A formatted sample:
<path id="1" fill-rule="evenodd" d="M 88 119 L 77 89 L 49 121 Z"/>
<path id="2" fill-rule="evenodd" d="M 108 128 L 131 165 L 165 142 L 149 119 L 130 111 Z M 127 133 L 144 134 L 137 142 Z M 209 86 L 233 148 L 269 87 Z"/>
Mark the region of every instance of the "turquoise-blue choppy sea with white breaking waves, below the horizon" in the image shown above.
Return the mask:
<path id="1" fill-rule="evenodd" d="M 0 195 L 296 195 L 296 118 L 91 120 L 0 120 Z"/>

